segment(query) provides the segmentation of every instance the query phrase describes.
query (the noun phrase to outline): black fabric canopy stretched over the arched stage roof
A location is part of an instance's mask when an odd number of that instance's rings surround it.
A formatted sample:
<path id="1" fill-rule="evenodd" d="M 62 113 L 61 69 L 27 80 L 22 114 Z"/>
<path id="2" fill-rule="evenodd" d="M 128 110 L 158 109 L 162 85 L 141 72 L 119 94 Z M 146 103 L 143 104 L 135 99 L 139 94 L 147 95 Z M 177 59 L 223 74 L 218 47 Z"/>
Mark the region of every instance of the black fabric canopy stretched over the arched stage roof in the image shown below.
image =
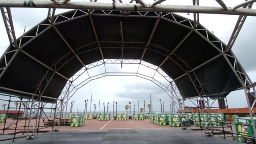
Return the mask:
<path id="1" fill-rule="evenodd" d="M 85 15 L 79 17 L 83 14 L 80 11 L 77 11 L 76 14 L 74 14 L 75 12 L 76 11 L 73 10 L 55 18 L 55 23 L 61 22 L 55 25 L 56 28 L 63 35 L 65 40 L 67 40 L 70 47 L 77 54 L 81 53 L 78 56 L 85 65 L 101 60 L 102 56 L 97 44 L 90 16 Z M 138 15 L 137 12 L 131 12 L 129 14 L 136 16 L 127 16 L 127 14 L 122 15 L 115 11 L 113 11 L 112 15 L 104 15 L 102 14 L 102 11 L 97 10 L 94 11 L 94 14 L 95 13 L 98 13 L 99 15 L 91 15 L 91 17 L 105 59 L 120 59 L 122 49 L 120 22 L 122 22 L 123 38 L 125 42 L 123 59 L 140 59 L 142 57 L 143 51 L 146 48 L 145 46 L 152 33 L 152 29 L 157 22 L 157 15 L 155 13 L 148 13 L 147 17 L 142 16 L 145 13 Z M 165 13 L 162 13 L 162 15 L 164 14 Z M 75 19 L 67 19 L 74 17 L 74 15 L 76 17 Z M 185 18 L 175 14 L 173 14 L 173 16 L 167 15 L 166 18 L 175 18 L 175 21 L 185 20 Z M 193 24 L 193 21 L 190 20 L 190 22 Z M 41 24 L 49 24 L 49 22 L 45 19 Z M 189 26 L 191 24 L 189 21 L 184 21 L 183 25 Z M 166 56 L 175 49 L 185 35 L 191 31 L 191 29 L 187 27 L 175 22 L 170 22 L 166 19 L 160 19 L 150 41 L 150 45 L 147 47 L 147 51 L 143 56 L 143 61 L 159 66 Z M 200 25 L 197 28 L 204 29 Z M 55 63 L 61 61 L 67 53 L 72 55 L 70 48 L 52 26 L 49 29 L 45 29 L 44 25 L 34 27 L 25 33 L 24 36 L 35 35 L 35 33 L 40 33 L 40 35 L 33 39 L 22 38 L 21 44 L 26 44 L 22 47 L 22 50 L 26 51 L 26 53 L 38 59 L 45 65 L 52 67 Z M 201 34 L 205 35 L 205 33 Z M 207 36 L 209 37 L 209 40 L 218 41 L 211 33 L 208 33 Z M 19 41 L 20 39 L 18 40 L 18 43 Z M 89 46 L 96 46 L 96 48 L 84 52 L 88 50 Z M 14 47 L 10 47 L 8 51 L 13 49 Z M 221 47 L 218 47 L 218 49 L 221 49 Z M 186 73 L 184 72 L 186 67 L 193 69 L 218 54 L 220 54 L 220 52 L 216 48 L 198 33 L 193 31 L 174 54 L 161 65 L 161 69 L 172 79 L 176 79 Z M 6 57 L 8 60 L 11 58 L 8 55 L 6 55 Z M 175 63 L 175 61 L 179 61 L 180 65 Z M 230 61 L 232 61 L 232 59 L 230 59 Z M 2 59 L 0 64 L 4 65 L 3 63 L 4 60 Z M 82 67 L 83 65 L 81 62 L 74 56 L 57 72 L 70 78 Z M 239 67 L 241 66 L 239 65 Z M 0 86 L 38 94 L 37 88 L 40 82 L 44 79 L 46 73 L 46 67 L 19 52 L 0 79 Z M 203 95 L 207 95 L 210 98 L 225 97 L 232 90 L 241 87 L 241 84 L 223 56 L 196 69 L 194 73 L 188 72 L 187 75 L 175 81 L 183 98 L 198 96 L 198 92 L 189 75 L 191 75 L 191 77 L 198 77 L 198 80 L 202 84 Z M 66 79 L 54 74 L 43 95 L 58 98 L 66 82 Z M 3 90 L 2 92 L 12 93 Z"/>

